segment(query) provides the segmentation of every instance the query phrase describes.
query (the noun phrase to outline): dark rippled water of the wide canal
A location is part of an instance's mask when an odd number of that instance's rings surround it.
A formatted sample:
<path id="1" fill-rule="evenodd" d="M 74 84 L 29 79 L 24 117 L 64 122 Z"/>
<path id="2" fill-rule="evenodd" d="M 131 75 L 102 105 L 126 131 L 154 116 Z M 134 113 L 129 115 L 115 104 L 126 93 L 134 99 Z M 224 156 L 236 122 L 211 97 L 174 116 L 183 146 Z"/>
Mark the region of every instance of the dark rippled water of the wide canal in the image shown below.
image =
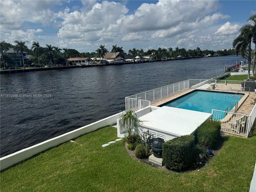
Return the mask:
<path id="1" fill-rule="evenodd" d="M 113 115 L 128 95 L 188 78 L 211 78 L 240 57 L 212 57 L 121 66 L 2 74 L 1 156 Z"/>

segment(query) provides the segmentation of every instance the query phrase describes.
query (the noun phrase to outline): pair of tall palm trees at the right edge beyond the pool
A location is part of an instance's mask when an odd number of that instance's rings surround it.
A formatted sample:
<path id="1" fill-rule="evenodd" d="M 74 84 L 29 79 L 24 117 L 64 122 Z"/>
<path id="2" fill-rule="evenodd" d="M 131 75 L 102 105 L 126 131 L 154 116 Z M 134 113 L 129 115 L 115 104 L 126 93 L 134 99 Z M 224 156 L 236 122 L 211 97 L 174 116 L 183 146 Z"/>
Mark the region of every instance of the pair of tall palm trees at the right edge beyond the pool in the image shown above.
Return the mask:
<path id="1" fill-rule="evenodd" d="M 255 57 L 256 57 L 256 14 L 252 15 L 248 20 L 249 24 L 244 25 L 239 31 L 240 34 L 234 39 L 233 47 L 236 54 L 241 53 L 242 57 L 248 60 L 247 79 L 250 79 L 251 64 L 252 74 L 255 74 Z M 251 45 L 254 44 L 254 51 Z M 253 52 L 253 54 L 252 54 Z"/>

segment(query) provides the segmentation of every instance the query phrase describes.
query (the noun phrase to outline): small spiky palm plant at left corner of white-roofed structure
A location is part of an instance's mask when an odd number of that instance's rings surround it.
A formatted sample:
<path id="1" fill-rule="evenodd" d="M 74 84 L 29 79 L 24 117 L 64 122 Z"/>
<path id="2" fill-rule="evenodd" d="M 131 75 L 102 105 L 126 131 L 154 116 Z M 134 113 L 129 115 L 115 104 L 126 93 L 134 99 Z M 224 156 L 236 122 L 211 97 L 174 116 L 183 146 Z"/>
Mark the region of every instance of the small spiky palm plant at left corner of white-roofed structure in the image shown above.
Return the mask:
<path id="1" fill-rule="evenodd" d="M 132 110 L 127 110 L 125 114 L 121 115 L 119 119 L 119 125 L 121 131 L 127 131 L 127 139 L 132 138 L 133 135 L 140 134 L 140 119 L 137 114 Z"/>

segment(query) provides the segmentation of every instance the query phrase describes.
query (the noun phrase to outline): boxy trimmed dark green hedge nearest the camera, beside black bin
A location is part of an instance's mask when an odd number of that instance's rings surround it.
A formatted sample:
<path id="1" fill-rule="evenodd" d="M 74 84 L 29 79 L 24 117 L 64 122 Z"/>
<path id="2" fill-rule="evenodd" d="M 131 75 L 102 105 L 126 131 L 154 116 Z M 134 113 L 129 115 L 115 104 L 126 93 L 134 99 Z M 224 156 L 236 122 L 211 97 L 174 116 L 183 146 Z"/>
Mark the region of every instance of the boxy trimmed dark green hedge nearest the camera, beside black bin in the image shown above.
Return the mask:
<path id="1" fill-rule="evenodd" d="M 183 135 L 163 143 L 163 164 L 167 169 L 181 171 L 194 161 L 195 137 Z"/>

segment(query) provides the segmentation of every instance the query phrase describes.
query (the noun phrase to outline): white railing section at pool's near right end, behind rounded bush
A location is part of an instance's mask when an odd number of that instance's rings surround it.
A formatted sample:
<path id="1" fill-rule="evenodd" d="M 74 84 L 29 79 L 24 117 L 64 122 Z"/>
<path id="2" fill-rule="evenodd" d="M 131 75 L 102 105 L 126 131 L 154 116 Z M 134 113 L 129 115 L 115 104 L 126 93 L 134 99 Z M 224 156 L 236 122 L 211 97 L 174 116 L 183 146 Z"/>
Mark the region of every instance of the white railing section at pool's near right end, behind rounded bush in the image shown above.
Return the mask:
<path id="1" fill-rule="evenodd" d="M 212 119 L 220 122 L 222 132 L 247 138 L 251 132 L 255 117 L 252 120 L 251 115 L 212 109 Z"/>

